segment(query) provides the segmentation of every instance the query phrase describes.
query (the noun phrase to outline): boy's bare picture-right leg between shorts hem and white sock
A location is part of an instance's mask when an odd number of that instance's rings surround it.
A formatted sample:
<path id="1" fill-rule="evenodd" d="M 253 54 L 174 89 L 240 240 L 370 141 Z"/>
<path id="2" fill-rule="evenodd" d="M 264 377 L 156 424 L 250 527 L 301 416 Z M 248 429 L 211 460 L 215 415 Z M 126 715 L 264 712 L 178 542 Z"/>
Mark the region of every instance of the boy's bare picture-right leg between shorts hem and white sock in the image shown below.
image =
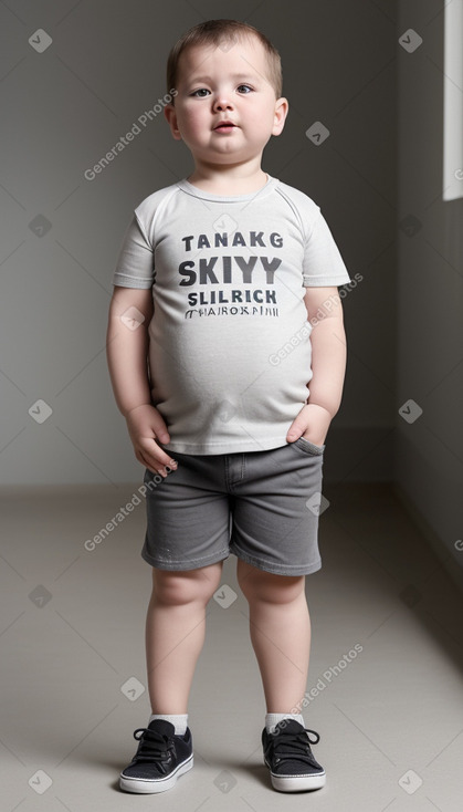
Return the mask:
<path id="1" fill-rule="evenodd" d="M 236 575 L 250 606 L 251 642 L 267 714 L 298 714 L 311 650 L 305 575 L 274 575 L 242 559 L 238 559 Z"/>

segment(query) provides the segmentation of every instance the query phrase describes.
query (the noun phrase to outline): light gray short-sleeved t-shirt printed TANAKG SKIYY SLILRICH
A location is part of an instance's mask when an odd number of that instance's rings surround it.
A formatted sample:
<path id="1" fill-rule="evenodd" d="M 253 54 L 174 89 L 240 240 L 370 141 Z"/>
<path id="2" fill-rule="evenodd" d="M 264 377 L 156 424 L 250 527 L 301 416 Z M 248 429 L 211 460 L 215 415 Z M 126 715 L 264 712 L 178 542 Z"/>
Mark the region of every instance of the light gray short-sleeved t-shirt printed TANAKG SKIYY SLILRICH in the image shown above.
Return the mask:
<path id="1" fill-rule="evenodd" d="M 319 207 L 277 178 L 233 197 L 183 179 L 143 200 L 113 283 L 152 287 L 149 375 L 167 448 L 285 446 L 312 378 L 305 287 L 349 281 Z"/>

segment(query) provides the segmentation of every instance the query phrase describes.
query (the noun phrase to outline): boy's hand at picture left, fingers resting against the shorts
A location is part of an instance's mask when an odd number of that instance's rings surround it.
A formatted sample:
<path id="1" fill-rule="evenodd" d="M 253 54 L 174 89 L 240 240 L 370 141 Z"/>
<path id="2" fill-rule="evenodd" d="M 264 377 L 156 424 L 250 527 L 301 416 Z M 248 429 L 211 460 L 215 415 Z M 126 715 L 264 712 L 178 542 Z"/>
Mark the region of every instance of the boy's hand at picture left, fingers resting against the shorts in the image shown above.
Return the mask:
<path id="1" fill-rule="evenodd" d="M 152 473 L 167 477 L 166 466 L 177 468 L 177 462 L 156 443 L 156 439 L 160 443 L 170 440 L 167 426 L 157 408 L 149 404 L 136 406 L 125 419 L 137 460 Z"/>

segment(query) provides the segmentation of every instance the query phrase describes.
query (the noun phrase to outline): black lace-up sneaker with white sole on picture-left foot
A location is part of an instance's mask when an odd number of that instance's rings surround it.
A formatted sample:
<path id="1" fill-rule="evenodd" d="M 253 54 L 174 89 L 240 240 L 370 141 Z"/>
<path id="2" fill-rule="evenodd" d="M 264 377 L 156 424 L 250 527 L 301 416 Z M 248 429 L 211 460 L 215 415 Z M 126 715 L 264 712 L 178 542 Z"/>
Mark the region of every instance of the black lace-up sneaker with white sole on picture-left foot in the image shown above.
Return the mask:
<path id="1" fill-rule="evenodd" d="M 137 728 L 134 738 L 139 741 L 131 762 L 119 777 L 125 792 L 165 792 L 193 766 L 190 728 L 185 736 L 176 736 L 175 727 L 166 719 L 154 719 L 147 728 Z"/>

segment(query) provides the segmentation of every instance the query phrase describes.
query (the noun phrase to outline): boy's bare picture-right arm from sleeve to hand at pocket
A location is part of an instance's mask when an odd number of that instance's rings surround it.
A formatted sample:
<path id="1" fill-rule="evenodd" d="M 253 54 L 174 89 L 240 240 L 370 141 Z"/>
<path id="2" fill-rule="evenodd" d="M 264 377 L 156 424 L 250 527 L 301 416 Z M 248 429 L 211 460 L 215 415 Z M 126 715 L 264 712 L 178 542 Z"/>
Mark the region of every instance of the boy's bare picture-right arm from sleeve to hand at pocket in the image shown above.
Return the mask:
<path id="1" fill-rule="evenodd" d="M 308 321 L 316 320 L 312 322 L 311 333 L 311 394 L 307 405 L 293 420 L 286 439 L 293 443 L 304 435 L 315 445 L 323 446 L 343 397 L 347 358 L 343 304 L 337 287 L 307 288 L 304 301 Z"/>

